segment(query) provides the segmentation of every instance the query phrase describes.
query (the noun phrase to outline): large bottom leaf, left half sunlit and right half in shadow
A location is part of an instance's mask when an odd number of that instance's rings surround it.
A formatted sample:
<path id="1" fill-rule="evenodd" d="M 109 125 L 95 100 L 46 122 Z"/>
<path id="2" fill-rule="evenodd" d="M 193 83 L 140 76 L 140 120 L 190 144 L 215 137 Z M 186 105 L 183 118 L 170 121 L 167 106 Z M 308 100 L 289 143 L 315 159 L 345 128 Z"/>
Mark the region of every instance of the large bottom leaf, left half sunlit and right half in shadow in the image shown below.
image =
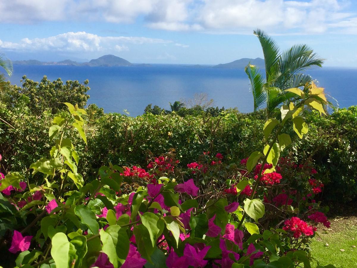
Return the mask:
<path id="1" fill-rule="evenodd" d="M 105 230 L 101 229 L 99 234 L 103 243 L 102 251 L 108 255 L 115 268 L 119 267 L 118 263 L 123 264 L 129 252 L 129 238 L 125 228 L 112 225 Z"/>

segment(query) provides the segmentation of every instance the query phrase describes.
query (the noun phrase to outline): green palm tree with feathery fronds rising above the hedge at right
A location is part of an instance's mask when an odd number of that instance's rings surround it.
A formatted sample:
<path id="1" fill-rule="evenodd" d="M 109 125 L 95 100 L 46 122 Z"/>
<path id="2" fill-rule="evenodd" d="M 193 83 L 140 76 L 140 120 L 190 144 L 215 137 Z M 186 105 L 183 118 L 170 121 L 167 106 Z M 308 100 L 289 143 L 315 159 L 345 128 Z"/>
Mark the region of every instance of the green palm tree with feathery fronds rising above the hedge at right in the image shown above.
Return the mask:
<path id="1" fill-rule="evenodd" d="M 296 96 L 284 90 L 310 84 L 311 76 L 303 74 L 303 71 L 312 66 L 322 67 L 324 59 L 319 58 L 307 45 L 294 45 L 280 53 L 279 46 L 264 31 L 257 29 L 253 34 L 262 46 L 265 78 L 251 64 L 246 66 L 245 72 L 251 83 L 254 111 L 266 104 L 266 116 L 270 118 L 280 104 L 288 103 Z"/>

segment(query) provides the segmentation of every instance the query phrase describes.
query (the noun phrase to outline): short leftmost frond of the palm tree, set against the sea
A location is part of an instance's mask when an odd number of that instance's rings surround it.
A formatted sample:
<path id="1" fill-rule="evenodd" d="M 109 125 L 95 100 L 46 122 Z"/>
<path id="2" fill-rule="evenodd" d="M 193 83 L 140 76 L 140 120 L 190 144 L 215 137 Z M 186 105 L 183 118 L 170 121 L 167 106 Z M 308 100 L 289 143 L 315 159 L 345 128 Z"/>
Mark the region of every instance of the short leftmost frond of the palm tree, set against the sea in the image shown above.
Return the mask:
<path id="1" fill-rule="evenodd" d="M 264 78 L 259 69 L 254 65 L 248 64 L 244 70 L 251 84 L 254 111 L 256 111 L 260 109 L 266 101 L 266 92 L 263 90 Z"/>

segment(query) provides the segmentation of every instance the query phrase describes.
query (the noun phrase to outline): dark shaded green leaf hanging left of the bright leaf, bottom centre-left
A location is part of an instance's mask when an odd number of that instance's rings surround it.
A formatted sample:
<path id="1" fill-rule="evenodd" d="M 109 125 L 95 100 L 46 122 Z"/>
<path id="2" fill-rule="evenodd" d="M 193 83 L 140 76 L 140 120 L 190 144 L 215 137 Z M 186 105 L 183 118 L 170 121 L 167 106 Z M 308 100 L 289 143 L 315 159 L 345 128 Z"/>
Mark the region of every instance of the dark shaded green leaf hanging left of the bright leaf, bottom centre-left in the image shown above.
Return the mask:
<path id="1" fill-rule="evenodd" d="M 134 236 L 137 250 L 142 255 L 142 257 L 151 262 L 151 255 L 154 253 L 156 246 L 155 248 L 152 247 L 149 231 L 143 224 L 135 225 Z"/>

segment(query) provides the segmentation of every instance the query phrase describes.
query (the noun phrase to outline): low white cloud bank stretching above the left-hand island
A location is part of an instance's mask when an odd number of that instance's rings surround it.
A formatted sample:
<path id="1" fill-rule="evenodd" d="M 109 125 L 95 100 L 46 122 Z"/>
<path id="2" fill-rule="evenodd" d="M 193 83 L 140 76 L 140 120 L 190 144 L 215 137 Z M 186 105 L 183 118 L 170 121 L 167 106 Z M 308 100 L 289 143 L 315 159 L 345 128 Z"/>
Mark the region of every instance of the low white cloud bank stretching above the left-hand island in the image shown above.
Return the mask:
<path id="1" fill-rule="evenodd" d="M 127 46 L 129 44 L 172 44 L 186 47 L 171 40 L 135 36 L 99 36 L 86 32 L 69 32 L 46 38 L 24 38 L 19 43 L 0 40 L 0 48 L 17 51 L 125 51 L 129 50 Z"/>

